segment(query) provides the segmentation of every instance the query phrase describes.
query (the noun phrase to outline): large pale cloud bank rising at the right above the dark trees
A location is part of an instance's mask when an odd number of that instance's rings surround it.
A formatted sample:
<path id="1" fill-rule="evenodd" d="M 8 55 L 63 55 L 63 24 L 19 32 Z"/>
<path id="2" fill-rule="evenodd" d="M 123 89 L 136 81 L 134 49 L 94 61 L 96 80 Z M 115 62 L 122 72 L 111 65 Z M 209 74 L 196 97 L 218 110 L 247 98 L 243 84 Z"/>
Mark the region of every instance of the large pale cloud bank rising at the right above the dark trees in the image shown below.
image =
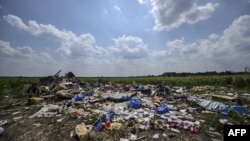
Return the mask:
<path id="1" fill-rule="evenodd" d="M 170 47 L 168 57 L 162 57 L 165 63 L 173 62 L 180 55 L 178 63 L 182 71 L 235 70 L 242 71 L 250 60 L 250 15 L 240 16 L 223 32 L 211 34 L 207 39 L 185 44 L 184 38 L 167 42 Z"/>

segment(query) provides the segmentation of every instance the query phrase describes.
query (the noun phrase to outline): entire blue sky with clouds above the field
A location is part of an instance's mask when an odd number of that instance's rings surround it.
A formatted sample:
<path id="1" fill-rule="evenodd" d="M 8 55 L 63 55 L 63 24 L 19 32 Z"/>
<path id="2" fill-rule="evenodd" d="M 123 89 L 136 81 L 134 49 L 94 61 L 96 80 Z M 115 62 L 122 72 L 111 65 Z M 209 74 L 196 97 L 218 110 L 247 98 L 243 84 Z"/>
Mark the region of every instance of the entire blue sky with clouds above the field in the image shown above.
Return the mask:
<path id="1" fill-rule="evenodd" d="M 0 75 L 244 71 L 249 0 L 0 0 Z"/>

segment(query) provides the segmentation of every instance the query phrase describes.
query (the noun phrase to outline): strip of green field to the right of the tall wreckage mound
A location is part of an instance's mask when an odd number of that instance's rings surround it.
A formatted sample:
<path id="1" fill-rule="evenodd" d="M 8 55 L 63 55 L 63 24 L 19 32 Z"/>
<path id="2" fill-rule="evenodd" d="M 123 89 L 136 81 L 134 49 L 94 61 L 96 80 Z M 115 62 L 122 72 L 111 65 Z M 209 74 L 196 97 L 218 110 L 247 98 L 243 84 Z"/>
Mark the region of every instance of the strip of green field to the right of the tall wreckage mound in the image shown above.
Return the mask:
<path id="1" fill-rule="evenodd" d="M 95 83 L 100 77 L 79 77 L 81 81 Z M 165 84 L 172 86 L 228 86 L 250 89 L 250 74 L 239 75 L 212 75 L 212 76 L 155 76 L 155 77 L 102 77 L 105 82 L 119 84 Z"/>

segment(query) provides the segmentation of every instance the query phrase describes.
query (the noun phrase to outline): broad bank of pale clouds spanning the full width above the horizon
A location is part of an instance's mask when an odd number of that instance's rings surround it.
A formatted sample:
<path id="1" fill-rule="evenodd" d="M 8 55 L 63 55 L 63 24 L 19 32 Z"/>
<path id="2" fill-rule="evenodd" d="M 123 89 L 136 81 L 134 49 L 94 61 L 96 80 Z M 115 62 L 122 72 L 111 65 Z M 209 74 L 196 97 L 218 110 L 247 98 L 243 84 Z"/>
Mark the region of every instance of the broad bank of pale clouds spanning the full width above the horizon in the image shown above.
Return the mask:
<path id="1" fill-rule="evenodd" d="M 104 47 L 97 45 L 98 41 L 90 33 L 77 36 L 72 31 L 31 20 L 25 24 L 15 15 L 4 16 L 4 20 L 34 36 L 45 36 L 60 43 L 55 52 L 37 52 L 32 46 L 15 47 L 8 41 L 0 40 L 0 73 L 6 75 L 25 72 L 27 67 L 32 70 L 27 74 L 37 72 L 40 75 L 48 66 L 52 73 L 63 69 L 81 76 L 123 76 L 127 72 L 130 75 L 144 75 L 211 69 L 224 71 L 225 68 L 242 70 L 242 66 L 249 65 L 250 60 L 250 15 L 235 19 L 221 35 L 212 33 L 192 43 L 186 43 L 185 37 L 166 40 L 166 48 L 161 50 L 149 47 L 138 36 L 118 36 L 111 39 L 111 45 Z M 58 59 L 58 54 L 64 59 Z M 13 69 L 13 66 L 18 69 Z"/>

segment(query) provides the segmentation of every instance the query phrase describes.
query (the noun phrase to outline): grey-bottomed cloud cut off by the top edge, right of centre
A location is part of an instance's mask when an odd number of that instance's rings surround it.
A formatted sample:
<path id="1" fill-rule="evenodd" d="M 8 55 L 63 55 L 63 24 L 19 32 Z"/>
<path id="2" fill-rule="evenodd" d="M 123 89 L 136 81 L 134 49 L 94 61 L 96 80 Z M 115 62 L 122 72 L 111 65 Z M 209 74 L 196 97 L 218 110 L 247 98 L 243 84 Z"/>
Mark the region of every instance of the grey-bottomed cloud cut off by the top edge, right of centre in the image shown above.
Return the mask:
<path id="1" fill-rule="evenodd" d="M 197 0 L 151 0 L 155 31 L 169 31 L 184 23 L 206 20 L 218 4 L 197 5 Z"/>

